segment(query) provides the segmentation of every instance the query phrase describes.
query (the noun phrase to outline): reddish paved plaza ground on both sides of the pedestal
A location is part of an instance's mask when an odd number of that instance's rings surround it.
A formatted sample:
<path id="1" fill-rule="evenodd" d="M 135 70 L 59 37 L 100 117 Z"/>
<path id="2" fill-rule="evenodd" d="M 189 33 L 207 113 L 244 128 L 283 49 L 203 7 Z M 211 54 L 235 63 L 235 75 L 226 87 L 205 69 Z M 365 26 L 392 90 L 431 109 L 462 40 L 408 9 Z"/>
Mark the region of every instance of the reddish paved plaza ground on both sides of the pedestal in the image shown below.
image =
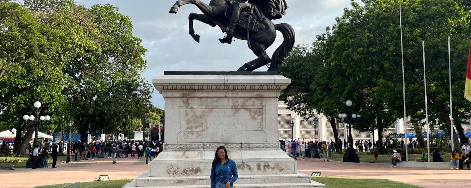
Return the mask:
<path id="1" fill-rule="evenodd" d="M 426 188 L 443 188 L 444 185 L 469 185 L 470 171 L 428 168 L 390 168 L 390 164 L 323 162 L 322 159 L 298 160 L 298 171 L 306 174 L 322 172 L 322 176 L 352 178 L 376 178 L 409 183 Z M 31 188 L 40 185 L 92 181 L 98 174 L 108 174 L 110 179 L 137 177 L 147 171 L 145 159 L 118 158 L 116 164 L 111 159 L 95 158 L 68 164 L 58 164 L 57 169 L 16 169 L 0 170 L 8 173 L 2 185 L 4 188 Z"/>

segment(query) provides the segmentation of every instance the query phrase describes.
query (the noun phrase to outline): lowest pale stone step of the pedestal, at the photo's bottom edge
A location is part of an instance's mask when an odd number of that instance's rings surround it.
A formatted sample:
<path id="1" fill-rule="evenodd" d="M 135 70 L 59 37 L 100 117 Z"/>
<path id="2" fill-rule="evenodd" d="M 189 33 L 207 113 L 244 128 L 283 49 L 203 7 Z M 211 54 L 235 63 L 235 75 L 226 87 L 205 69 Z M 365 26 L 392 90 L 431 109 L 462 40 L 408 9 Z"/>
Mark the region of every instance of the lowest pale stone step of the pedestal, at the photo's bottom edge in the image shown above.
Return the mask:
<path id="1" fill-rule="evenodd" d="M 237 182 L 237 181 L 236 181 Z M 124 186 L 123 188 L 142 188 Z M 146 188 L 211 188 L 209 185 L 173 185 L 173 186 L 147 186 Z M 310 183 L 241 183 L 234 188 L 325 188 L 325 185 L 312 181 Z"/>

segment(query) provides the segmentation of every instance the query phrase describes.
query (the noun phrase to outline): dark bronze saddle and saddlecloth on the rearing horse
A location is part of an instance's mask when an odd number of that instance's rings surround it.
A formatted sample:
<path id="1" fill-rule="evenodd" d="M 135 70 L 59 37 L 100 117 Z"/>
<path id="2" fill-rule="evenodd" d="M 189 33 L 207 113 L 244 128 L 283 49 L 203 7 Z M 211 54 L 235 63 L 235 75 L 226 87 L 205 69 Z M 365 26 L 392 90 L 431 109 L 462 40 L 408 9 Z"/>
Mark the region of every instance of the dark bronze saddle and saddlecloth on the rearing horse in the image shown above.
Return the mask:
<path id="1" fill-rule="evenodd" d="M 247 31 L 257 32 L 259 31 L 260 21 L 264 21 L 266 18 L 263 16 L 259 9 L 249 3 L 240 3 L 241 5 L 245 4 L 246 6 L 241 6 L 240 16 L 237 21 L 238 27 L 244 28 Z M 232 16 L 232 6 L 229 6 L 224 12 L 224 16 L 230 20 Z"/>

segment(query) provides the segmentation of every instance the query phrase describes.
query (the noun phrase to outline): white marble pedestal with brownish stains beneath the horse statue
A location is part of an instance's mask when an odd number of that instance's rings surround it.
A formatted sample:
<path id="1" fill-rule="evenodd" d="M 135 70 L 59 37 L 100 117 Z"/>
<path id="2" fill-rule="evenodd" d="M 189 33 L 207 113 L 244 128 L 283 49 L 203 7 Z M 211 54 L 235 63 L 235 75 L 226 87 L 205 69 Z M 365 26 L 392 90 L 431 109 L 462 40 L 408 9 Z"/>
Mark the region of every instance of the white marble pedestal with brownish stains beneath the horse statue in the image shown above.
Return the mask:
<path id="1" fill-rule="evenodd" d="M 279 149 L 278 97 L 283 76 L 163 75 L 164 150 L 126 188 L 210 188 L 211 162 L 223 145 L 237 164 L 235 188 L 324 188 L 297 173 Z"/>

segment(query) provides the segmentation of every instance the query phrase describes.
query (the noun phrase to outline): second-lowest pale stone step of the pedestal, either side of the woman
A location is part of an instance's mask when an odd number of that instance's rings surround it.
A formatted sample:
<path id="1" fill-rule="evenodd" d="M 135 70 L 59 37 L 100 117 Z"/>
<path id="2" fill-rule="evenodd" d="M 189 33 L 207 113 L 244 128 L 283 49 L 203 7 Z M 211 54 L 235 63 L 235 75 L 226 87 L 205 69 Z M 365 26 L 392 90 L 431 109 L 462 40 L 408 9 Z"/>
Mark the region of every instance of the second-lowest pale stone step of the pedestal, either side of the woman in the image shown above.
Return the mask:
<path id="1" fill-rule="evenodd" d="M 286 180 L 292 183 L 309 183 L 310 176 L 304 173 L 297 174 L 268 174 L 268 175 L 239 175 L 237 184 L 258 183 L 284 183 Z M 146 177 L 146 173 L 136 178 L 137 187 L 146 186 L 176 186 L 176 185 L 209 185 L 210 176 L 187 176 L 187 177 Z"/>

